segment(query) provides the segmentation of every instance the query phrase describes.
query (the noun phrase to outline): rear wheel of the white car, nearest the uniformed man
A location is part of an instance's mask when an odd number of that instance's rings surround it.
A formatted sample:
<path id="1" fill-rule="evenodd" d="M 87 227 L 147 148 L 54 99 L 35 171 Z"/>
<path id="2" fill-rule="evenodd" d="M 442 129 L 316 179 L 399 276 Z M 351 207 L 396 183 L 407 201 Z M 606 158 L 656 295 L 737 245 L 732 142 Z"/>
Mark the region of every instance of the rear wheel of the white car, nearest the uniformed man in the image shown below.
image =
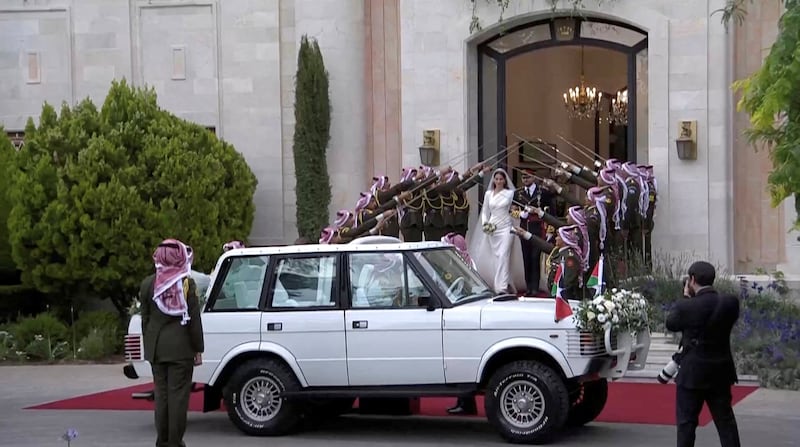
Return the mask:
<path id="1" fill-rule="evenodd" d="M 300 383 L 283 362 L 254 359 L 236 368 L 226 386 L 225 407 L 231 422 L 251 436 L 282 436 L 302 422 L 297 401 L 280 397 Z"/>

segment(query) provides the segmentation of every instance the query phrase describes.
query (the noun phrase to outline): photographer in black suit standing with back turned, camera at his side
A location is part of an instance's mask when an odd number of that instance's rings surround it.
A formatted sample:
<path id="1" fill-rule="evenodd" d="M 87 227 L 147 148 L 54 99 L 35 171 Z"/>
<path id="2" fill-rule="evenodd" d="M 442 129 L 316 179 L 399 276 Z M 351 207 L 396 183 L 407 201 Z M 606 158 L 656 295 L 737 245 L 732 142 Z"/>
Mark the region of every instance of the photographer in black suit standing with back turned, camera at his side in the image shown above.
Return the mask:
<path id="1" fill-rule="evenodd" d="M 677 384 L 678 447 L 694 446 L 700 410 L 708 405 L 722 447 L 739 447 L 739 430 L 731 407 L 731 386 L 738 381 L 730 337 L 739 319 L 739 300 L 713 288 L 716 273 L 708 262 L 689 267 L 684 299 L 667 317 L 667 329 L 682 332 Z"/>

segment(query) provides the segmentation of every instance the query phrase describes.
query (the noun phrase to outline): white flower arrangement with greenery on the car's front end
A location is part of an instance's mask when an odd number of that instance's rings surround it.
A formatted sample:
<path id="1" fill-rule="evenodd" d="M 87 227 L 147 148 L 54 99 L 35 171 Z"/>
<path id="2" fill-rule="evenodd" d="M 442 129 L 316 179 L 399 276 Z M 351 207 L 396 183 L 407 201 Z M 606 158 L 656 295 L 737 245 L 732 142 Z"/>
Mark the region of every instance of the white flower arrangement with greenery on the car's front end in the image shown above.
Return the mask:
<path id="1" fill-rule="evenodd" d="M 639 332 L 648 328 L 649 304 L 641 293 L 611 289 L 578 306 L 573 317 L 581 331 L 602 335 L 606 328 L 617 332 Z"/>

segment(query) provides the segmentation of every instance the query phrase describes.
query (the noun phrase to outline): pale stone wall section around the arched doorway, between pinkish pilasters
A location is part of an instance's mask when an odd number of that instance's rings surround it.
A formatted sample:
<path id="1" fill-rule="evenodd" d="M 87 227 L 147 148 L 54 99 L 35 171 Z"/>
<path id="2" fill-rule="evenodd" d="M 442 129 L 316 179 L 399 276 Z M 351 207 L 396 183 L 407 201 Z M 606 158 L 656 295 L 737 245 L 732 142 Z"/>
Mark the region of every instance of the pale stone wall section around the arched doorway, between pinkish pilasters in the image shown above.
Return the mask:
<path id="1" fill-rule="evenodd" d="M 442 160 L 477 148 L 476 45 L 502 29 L 551 14 L 544 0 L 511 2 L 505 19 L 477 2 L 484 31 L 469 34 L 471 3 L 406 0 L 401 5 L 403 161 L 418 160 L 425 128 L 440 128 Z M 724 0 L 584 2 L 585 14 L 648 32 L 647 158 L 659 180 L 655 249 L 694 251 L 732 264 L 728 35 L 711 12 Z M 567 12 L 567 11 L 564 11 Z M 442 23 L 447 23 L 446 27 Z M 698 159 L 681 161 L 678 122 L 697 120 Z M 466 161 L 457 164 L 463 168 Z"/>

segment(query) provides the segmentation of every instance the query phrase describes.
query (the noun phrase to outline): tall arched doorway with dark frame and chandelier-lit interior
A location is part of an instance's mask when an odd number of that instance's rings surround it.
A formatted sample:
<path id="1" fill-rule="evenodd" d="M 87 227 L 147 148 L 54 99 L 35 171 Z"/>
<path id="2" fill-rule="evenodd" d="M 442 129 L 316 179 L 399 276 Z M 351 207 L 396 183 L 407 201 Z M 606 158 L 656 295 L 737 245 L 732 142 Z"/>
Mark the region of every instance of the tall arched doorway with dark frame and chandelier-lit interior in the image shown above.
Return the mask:
<path id="1" fill-rule="evenodd" d="M 520 139 L 540 139 L 558 152 L 529 147 L 503 156 L 505 165 L 513 172 L 537 169 L 552 165 L 554 157 L 588 165 L 592 154 L 646 162 L 647 46 L 645 31 L 589 17 L 534 21 L 479 44 L 479 159 Z M 579 85 L 582 74 L 602 100 L 591 116 L 578 118 L 568 113 L 563 94 Z M 618 95 L 627 95 L 624 119 L 612 110 Z"/>

